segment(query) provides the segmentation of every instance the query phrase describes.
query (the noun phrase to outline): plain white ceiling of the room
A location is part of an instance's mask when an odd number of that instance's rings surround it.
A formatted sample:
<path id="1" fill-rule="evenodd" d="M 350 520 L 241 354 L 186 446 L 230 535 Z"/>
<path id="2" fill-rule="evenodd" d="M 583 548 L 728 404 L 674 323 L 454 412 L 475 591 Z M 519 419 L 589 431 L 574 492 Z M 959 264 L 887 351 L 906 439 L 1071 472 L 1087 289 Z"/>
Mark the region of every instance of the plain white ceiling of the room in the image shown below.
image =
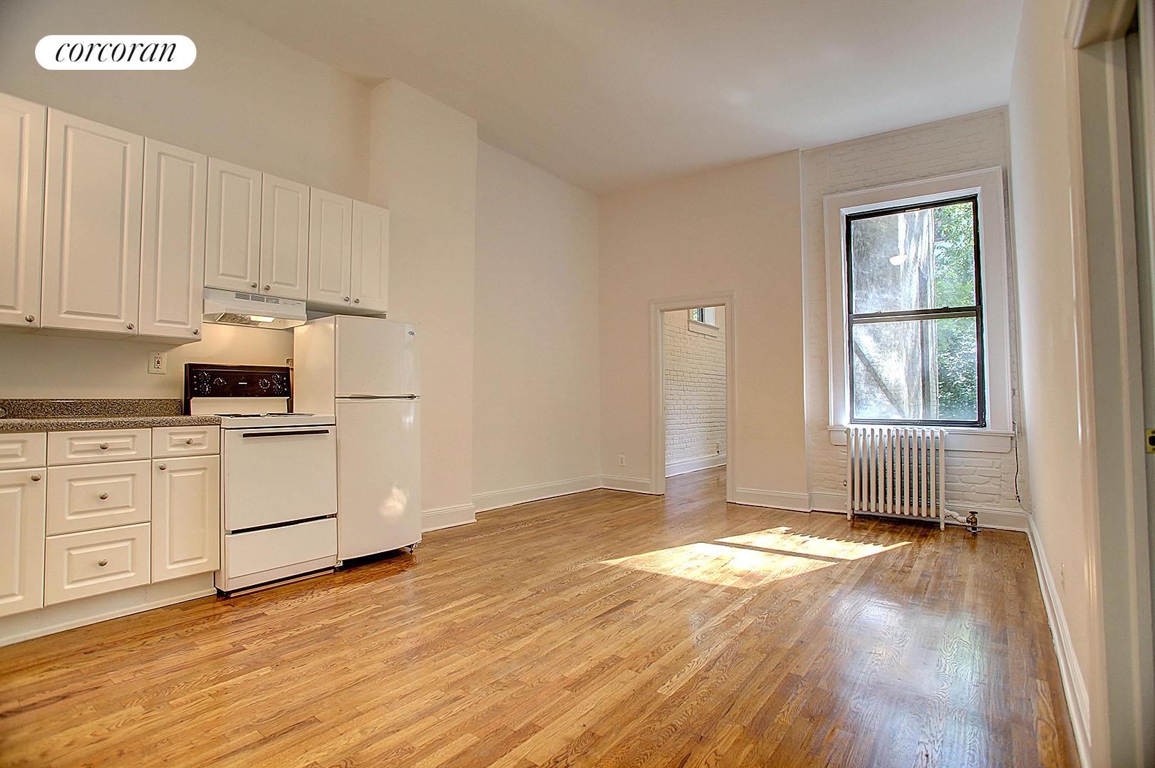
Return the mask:
<path id="1" fill-rule="evenodd" d="M 208 0 L 593 192 L 1005 104 L 1021 0 Z"/>

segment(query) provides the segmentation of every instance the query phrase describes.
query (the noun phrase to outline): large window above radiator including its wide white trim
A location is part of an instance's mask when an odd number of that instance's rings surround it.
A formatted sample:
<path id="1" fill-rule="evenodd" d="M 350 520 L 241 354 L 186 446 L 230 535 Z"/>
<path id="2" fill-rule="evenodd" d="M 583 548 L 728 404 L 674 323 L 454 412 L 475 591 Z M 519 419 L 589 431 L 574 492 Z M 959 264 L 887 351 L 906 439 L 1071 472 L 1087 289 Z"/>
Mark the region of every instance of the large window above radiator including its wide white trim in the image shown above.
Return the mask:
<path id="1" fill-rule="evenodd" d="M 822 197 L 829 439 L 854 423 L 942 426 L 1009 452 L 1003 169 Z"/>

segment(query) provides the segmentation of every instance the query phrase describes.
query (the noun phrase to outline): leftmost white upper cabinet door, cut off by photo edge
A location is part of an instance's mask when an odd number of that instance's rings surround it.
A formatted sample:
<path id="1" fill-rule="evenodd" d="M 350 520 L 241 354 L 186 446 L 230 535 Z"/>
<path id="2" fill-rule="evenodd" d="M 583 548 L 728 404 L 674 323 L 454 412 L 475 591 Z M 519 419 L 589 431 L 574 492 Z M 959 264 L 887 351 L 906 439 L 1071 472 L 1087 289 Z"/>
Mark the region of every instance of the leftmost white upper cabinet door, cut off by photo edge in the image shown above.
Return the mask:
<path id="1" fill-rule="evenodd" d="M 40 325 L 47 107 L 0 94 L 0 325 Z"/>

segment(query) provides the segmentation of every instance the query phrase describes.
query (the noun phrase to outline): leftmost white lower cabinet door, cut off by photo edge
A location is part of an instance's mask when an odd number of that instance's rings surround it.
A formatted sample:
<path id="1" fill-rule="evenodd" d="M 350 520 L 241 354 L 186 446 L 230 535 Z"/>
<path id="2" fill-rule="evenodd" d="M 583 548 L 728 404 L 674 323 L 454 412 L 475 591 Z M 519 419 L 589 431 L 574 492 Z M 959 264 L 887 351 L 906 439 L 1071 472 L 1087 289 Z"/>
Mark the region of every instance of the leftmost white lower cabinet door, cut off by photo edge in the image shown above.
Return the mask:
<path id="1" fill-rule="evenodd" d="M 44 606 L 44 470 L 0 472 L 0 616 Z"/>

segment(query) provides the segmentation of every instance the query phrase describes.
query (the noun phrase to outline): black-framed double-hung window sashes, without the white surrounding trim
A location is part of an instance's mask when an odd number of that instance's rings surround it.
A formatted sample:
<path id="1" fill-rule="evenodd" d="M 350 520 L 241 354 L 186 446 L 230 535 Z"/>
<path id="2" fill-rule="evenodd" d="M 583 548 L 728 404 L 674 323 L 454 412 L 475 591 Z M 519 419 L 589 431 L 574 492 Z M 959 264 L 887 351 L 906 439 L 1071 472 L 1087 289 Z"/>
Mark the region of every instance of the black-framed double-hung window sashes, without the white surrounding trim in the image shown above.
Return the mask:
<path id="1" fill-rule="evenodd" d="M 985 426 L 978 195 L 845 217 L 850 419 Z"/>

